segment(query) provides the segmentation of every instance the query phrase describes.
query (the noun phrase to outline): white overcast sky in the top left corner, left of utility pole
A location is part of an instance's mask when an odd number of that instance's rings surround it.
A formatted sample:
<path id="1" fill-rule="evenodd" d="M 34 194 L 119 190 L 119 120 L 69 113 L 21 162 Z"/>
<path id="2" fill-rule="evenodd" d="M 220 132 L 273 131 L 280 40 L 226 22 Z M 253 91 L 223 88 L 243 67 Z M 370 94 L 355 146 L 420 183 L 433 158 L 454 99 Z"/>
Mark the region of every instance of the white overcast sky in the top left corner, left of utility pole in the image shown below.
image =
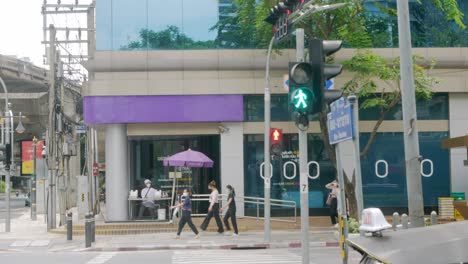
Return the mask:
<path id="1" fill-rule="evenodd" d="M 42 66 L 43 0 L 0 0 L 0 54 L 29 57 Z"/>

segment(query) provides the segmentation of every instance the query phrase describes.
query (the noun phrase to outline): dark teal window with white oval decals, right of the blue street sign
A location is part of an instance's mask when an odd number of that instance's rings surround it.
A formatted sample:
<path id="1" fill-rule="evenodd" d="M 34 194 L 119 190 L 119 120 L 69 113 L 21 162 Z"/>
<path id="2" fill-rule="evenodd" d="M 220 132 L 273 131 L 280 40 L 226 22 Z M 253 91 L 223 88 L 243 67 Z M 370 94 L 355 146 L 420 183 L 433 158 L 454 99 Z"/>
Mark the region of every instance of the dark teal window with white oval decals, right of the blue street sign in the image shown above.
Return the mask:
<path id="1" fill-rule="evenodd" d="M 369 136 L 369 133 L 361 133 L 361 148 Z M 438 197 L 450 192 L 449 152 L 440 147 L 447 137 L 448 132 L 419 133 L 420 153 L 425 160 L 423 172 L 431 175 L 422 177 L 425 206 L 437 206 Z M 361 168 L 366 207 L 407 206 L 402 133 L 378 133 L 371 150 L 361 160 Z"/>

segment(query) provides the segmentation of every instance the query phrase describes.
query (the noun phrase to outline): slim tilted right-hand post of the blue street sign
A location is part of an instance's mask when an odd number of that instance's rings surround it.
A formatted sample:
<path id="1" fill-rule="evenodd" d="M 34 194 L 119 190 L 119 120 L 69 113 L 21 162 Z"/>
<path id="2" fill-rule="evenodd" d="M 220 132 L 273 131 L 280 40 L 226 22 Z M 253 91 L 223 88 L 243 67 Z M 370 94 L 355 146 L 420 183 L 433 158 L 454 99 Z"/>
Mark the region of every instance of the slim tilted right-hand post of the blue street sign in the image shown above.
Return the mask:
<path id="1" fill-rule="evenodd" d="M 361 174 L 361 148 L 359 145 L 359 101 L 356 95 L 351 94 L 348 96 L 348 102 L 353 108 L 353 144 L 354 144 L 354 171 L 356 177 L 356 201 L 358 209 L 359 223 L 362 221 L 362 210 L 364 209 L 364 200 L 362 195 L 362 174 Z M 361 235 L 364 235 L 361 232 Z"/>

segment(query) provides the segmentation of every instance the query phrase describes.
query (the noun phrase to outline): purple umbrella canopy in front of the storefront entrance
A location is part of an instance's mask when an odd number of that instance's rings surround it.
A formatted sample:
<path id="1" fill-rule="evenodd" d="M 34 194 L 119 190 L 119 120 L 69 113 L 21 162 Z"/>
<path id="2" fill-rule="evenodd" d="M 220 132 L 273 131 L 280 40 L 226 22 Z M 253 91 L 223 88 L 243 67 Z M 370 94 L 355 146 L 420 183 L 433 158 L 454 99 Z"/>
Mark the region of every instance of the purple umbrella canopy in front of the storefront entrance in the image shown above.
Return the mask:
<path id="1" fill-rule="evenodd" d="M 188 149 L 165 158 L 164 166 L 211 168 L 213 161 L 199 151 Z"/>

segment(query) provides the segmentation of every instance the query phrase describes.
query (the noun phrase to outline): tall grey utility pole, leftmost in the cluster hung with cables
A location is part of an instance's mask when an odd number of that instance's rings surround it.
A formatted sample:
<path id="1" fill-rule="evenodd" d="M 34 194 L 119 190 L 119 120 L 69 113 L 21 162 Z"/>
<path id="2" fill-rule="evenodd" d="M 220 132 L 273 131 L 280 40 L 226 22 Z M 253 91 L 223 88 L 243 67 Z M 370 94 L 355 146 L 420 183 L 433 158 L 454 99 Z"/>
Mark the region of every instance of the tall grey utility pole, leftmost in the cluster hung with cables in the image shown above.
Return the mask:
<path id="1" fill-rule="evenodd" d="M 55 36 L 56 31 L 53 25 L 49 26 L 49 129 L 48 129 L 48 144 L 47 144 L 47 158 L 48 168 L 50 171 L 49 179 L 49 214 L 47 228 L 54 229 L 56 227 L 56 212 L 55 212 L 55 170 L 56 170 L 56 151 L 55 151 L 55 79 L 56 79 L 56 47 Z"/>

